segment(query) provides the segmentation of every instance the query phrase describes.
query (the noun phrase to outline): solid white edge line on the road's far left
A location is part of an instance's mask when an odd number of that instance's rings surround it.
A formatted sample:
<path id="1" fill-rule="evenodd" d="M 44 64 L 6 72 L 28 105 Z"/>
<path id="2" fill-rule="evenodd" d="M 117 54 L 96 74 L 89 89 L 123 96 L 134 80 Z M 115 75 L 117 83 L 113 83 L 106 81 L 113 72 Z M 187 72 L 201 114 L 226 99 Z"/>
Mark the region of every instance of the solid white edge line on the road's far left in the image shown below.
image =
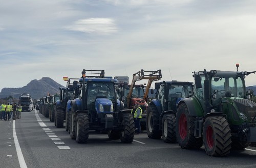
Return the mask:
<path id="1" fill-rule="evenodd" d="M 15 120 L 13 120 L 13 123 L 12 123 L 12 133 L 13 133 L 14 144 L 16 147 L 16 152 L 18 155 L 19 166 L 20 166 L 20 168 L 27 168 L 27 164 L 26 164 L 25 159 L 22 154 L 22 149 L 20 149 L 20 146 L 18 143 L 18 138 L 17 138 L 16 130 L 15 130 Z"/>

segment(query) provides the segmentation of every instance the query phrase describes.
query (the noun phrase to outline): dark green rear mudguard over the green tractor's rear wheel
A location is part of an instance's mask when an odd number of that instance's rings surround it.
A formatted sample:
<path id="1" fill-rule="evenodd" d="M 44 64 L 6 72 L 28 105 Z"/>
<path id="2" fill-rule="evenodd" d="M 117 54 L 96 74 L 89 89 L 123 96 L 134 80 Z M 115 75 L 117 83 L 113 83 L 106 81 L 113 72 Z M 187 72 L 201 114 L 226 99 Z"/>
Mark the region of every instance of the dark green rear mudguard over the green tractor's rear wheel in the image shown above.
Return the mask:
<path id="1" fill-rule="evenodd" d="M 202 109 L 200 103 L 193 97 L 181 99 L 177 105 L 177 108 L 180 104 L 185 103 L 187 105 L 189 116 L 194 117 L 203 117 L 204 110 Z"/>

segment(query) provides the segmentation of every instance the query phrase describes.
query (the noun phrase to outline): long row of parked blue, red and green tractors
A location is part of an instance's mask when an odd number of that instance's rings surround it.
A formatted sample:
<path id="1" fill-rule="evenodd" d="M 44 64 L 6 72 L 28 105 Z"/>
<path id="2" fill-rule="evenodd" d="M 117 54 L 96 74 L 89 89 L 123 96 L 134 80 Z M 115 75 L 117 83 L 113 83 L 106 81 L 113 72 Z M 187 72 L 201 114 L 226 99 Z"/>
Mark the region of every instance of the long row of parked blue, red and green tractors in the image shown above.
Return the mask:
<path id="1" fill-rule="evenodd" d="M 147 74 L 148 73 L 148 74 Z M 231 148 L 242 150 L 256 143 L 256 103 L 246 92 L 245 77 L 253 72 L 198 71 L 195 82 L 155 82 L 156 99 L 148 102 L 153 81 L 161 70 L 133 74 L 131 85 L 104 70 L 83 70 L 81 78 L 69 78 L 59 95 L 42 99 L 40 113 L 56 127 L 63 127 L 77 143 L 86 143 L 90 130 L 108 132 L 111 139 L 132 143 L 131 108 L 143 109 L 142 130 L 150 138 L 179 143 L 184 149 L 204 146 L 210 156 L 226 156 Z M 147 79 L 147 86 L 135 85 Z"/>

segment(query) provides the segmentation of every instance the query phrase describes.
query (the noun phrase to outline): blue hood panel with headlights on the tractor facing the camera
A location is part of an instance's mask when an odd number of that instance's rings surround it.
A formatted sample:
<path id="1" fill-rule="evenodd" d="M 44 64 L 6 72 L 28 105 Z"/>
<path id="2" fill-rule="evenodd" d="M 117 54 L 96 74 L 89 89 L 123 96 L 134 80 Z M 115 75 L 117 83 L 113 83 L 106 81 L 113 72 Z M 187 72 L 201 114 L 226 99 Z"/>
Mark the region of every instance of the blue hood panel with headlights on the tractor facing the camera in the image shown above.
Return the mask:
<path id="1" fill-rule="evenodd" d="M 102 107 L 100 109 L 100 107 Z M 95 101 L 95 109 L 98 114 L 113 114 L 113 111 L 111 111 L 111 108 L 113 109 L 113 103 L 108 98 L 97 98 Z M 101 110 L 101 111 L 100 111 Z M 103 111 L 102 111 L 103 110 Z"/>

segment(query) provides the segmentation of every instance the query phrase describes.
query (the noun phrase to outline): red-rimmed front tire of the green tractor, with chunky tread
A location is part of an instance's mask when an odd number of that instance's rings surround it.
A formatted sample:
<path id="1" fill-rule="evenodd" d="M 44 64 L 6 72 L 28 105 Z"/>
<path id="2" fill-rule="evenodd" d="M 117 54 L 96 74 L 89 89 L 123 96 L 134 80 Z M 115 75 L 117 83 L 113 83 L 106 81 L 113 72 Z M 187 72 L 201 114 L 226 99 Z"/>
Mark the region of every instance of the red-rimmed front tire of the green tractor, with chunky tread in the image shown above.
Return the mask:
<path id="1" fill-rule="evenodd" d="M 203 141 L 209 156 L 226 156 L 230 153 L 231 133 L 225 117 L 211 116 L 205 119 Z"/>

